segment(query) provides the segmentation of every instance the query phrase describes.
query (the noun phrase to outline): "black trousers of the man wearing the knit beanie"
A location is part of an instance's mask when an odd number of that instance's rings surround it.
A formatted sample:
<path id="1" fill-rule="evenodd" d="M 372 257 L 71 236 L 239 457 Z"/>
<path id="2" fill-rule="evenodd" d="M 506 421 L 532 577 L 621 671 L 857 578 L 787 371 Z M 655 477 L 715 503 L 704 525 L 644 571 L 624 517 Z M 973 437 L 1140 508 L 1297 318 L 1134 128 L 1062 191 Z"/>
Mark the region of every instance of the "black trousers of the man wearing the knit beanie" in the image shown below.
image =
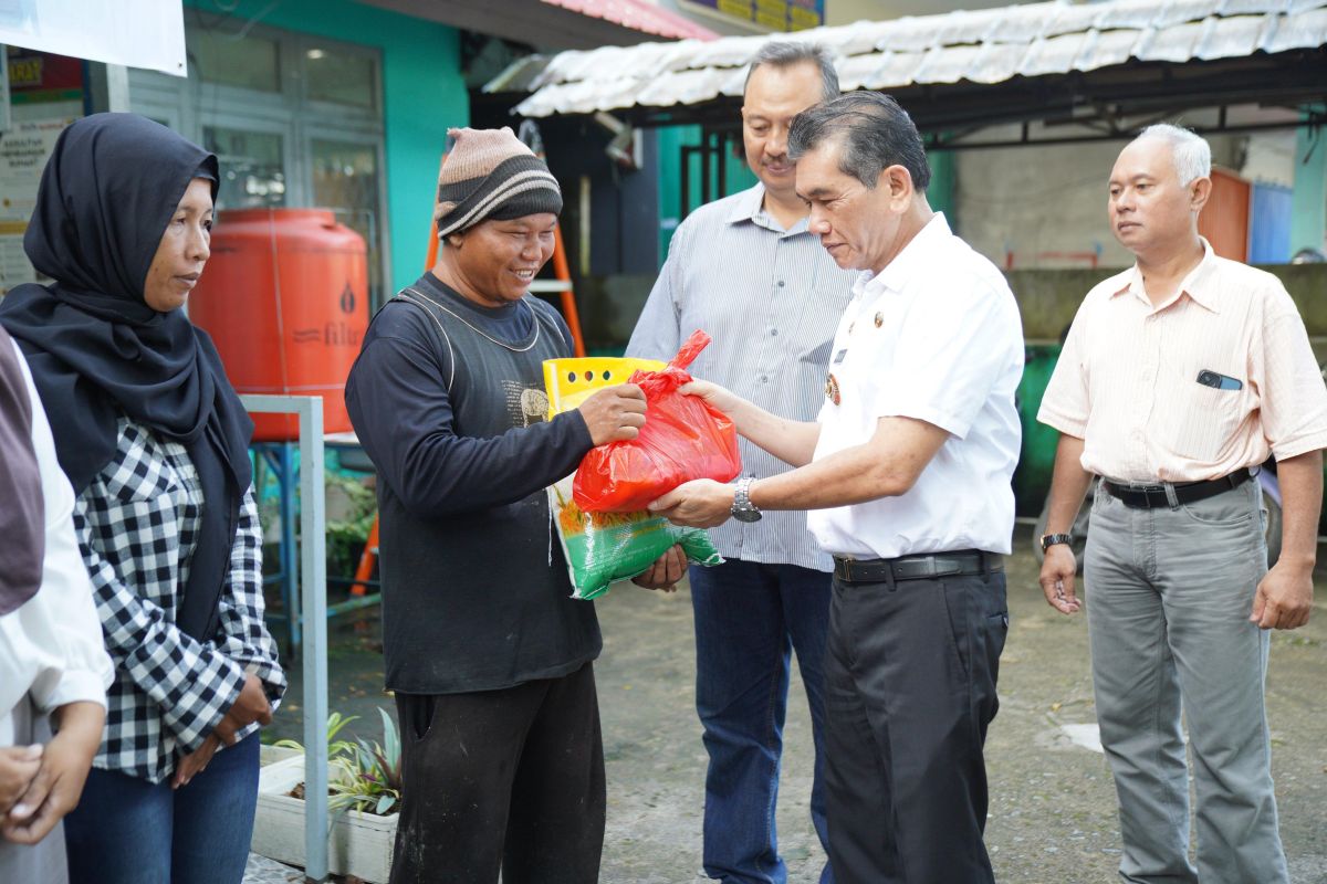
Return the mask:
<path id="1" fill-rule="evenodd" d="M 593 884 L 604 848 L 594 669 L 397 694 L 405 790 L 391 884 Z"/>

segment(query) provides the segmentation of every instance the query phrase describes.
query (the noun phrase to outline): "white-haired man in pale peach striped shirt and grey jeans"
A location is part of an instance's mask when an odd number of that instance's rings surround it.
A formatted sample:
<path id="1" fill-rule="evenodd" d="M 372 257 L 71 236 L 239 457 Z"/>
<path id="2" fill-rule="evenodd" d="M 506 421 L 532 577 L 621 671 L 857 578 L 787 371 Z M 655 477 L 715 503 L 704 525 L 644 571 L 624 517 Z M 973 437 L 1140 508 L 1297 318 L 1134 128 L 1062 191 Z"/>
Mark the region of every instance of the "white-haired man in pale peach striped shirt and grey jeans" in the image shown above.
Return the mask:
<path id="1" fill-rule="evenodd" d="M 1152 126 L 1116 160 L 1109 219 L 1137 257 L 1084 298 L 1038 420 L 1060 431 L 1047 602 L 1075 614 L 1068 530 L 1093 476 L 1084 578 L 1101 745 L 1137 884 L 1286 881 L 1263 708 L 1267 630 L 1308 620 L 1327 388 L 1281 282 L 1198 236 L 1208 143 Z M 1250 469 L 1277 457 L 1267 570 Z M 1188 720 L 1197 783 L 1189 860 Z"/>

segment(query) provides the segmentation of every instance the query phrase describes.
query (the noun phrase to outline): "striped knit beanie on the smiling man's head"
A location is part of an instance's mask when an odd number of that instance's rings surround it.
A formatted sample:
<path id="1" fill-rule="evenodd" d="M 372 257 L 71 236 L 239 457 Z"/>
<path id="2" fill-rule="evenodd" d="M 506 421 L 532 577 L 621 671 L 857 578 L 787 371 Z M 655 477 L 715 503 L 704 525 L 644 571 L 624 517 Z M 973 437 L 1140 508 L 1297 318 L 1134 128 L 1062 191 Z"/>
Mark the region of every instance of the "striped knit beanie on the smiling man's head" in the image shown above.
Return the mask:
<path id="1" fill-rule="evenodd" d="M 451 150 L 438 174 L 433 217 L 438 236 L 480 221 L 563 211 L 557 179 L 511 129 L 450 129 Z"/>

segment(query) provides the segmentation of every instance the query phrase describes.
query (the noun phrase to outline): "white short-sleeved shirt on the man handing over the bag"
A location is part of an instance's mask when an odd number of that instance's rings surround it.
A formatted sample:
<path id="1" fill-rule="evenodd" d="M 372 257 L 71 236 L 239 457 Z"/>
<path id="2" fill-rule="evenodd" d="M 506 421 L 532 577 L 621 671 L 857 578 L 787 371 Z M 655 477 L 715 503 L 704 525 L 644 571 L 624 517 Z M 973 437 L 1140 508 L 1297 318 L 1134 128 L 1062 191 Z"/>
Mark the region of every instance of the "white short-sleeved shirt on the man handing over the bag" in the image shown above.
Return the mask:
<path id="1" fill-rule="evenodd" d="M 820 545 L 853 558 L 1009 553 L 1023 329 L 1005 277 L 943 215 L 859 280 L 828 371 L 815 460 L 867 443 L 881 417 L 950 437 L 906 494 L 811 512 Z"/>

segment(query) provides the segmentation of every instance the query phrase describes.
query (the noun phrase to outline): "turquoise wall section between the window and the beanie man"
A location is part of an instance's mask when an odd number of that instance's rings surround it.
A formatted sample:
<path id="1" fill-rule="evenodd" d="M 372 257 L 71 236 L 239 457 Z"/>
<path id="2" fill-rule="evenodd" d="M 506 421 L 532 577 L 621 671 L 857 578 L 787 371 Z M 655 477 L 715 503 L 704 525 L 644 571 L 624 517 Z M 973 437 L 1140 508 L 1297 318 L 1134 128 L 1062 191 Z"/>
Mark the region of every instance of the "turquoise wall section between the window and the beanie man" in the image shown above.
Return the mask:
<path id="1" fill-rule="evenodd" d="M 186 0 L 218 13 L 215 0 Z M 413 19 L 352 0 L 238 0 L 226 12 L 239 19 L 261 15 L 273 28 L 374 46 L 382 53 L 387 224 L 391 285 L 418 278 L 429 247 L 438 160 L 447 129 L 470 123 L 470 98 L 460 76 L 460 37 L 455 28 Z M 264 15 L 265 13 L 265 15 Z"/>

